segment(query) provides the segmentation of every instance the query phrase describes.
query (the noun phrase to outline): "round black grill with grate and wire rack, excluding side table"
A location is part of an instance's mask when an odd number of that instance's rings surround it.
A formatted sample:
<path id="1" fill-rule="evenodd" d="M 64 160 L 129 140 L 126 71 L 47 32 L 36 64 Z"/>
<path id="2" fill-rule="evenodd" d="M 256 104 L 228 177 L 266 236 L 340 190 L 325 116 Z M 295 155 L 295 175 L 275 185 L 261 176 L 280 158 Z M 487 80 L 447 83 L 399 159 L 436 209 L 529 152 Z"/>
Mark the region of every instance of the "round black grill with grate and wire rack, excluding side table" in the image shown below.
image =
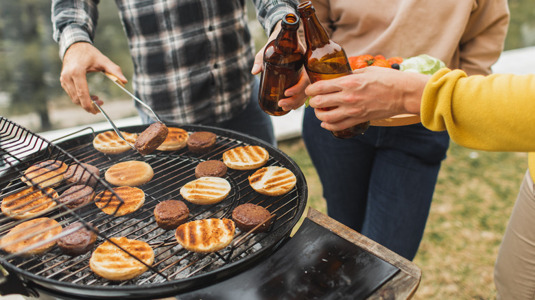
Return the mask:
<path id="1" fill-rule="evenodd" d="M 147 299 L 169 295 L 178 291 L 202 288 L 221 279 L 239 273 L 257 260 L 283 245 L 292 228 L 305 210 L 307 183 L 298 166 L 283 152 L 257 138 L 237 132 L 198 125 L 168 125 L 181 127 L 191 132 L 209 131 L 217 134 L 215 149 L 209 153 L 192 153 L 185 147 L 178 151 L 154 151 L 150 155 L 139 155 L 133 150 L 121 154 L 104 154 L 93 147 L 93 138 L 99 132 L 88 128 L 74 136 L 61 138 L 54 143 L 12 123 L 0 119 L 0 198 L 27 188 L 21 181 L 23 172 L 32 164 L 45 160 L 58 160 L 67 165 L 84 162 L 97 166 L 104 177 L 104 171 L 117 162 L 141 160 L 154 169 L 153 179 L 143 186 L 145 203 L 143 208 L 126 216 L 104 214 L 96 205 L 89 203 L 76 210 L 59 208 L 45 216 L 58 221 L 62 227 L 75 221 L 91 222 L 99 229 L 97 244 L 112 237 L 126 236 L 144 240 L 155 252 L 154 264 L 149 271 L 126 282 L 112 282 L 95 275 L 88 267 L 91 253 L 77 257 L 62 255 L 55 247 L 45 255 L 20 258 L 1 252 L 0 262 L 10 273 L 16 273 L 26 286 L 37 286 L 51 294 L 69 295 L 80 299 Z M 123 132 L 140 133 L 146 125 L 121 127 Z M 268 232 L 250 234 L 237 230 L 229 247 L 216 253 L 198 254 L 183 249 L 174 238 L 174 231 L 165 231 L 156 225 L 153 210 L 157 203 L 168 199 L 179 199 L 179 189 L 195 179 L 195 166 L 204 160 L 222 160 L 224 151 L 244 145 L 260 145 L 268 150 L 270 159 L 266 166 L 284 166 L 297 178 L 296 187 L 280 197 L 260 195 L 252 190 L 248 175 L 252 171 L 228 169 L 226 179 L 232 187 L 228 197 L 215 205 L 188 204 L 189 220 L 200 218 L 231 218 L 233 209 L 242 203 L 262 205 L 275 215 Z M 37 186 L 37 183 L 34 183 Z M 72 184 L 53 187 L 62 194 Z M 104 179 L 99 179 L 95 192 L 111 190 Z M 112 190 L 111 190 L 112 191 Z M 58 205 L 63 206 L 63 205 Z M 22 220 L 27 221 L 27 220 Z M 22 221 L 0 216 L 0 237 Z M 95 245 L 95 246 L 96 246 Z M 146 290 L 144 287 L 150 287 Z M 30 291 L 31 292 L 31 291 Z M 148 295 L 150 296 L 148 296 Z"/>

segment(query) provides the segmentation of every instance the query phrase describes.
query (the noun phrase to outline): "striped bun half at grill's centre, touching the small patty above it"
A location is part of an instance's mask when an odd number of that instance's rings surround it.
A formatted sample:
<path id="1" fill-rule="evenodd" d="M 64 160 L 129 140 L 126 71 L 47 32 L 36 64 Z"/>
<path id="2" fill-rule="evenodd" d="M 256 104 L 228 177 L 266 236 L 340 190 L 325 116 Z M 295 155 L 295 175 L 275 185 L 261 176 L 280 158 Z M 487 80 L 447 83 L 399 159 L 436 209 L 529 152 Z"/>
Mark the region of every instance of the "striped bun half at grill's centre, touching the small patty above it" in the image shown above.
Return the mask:
<path id="1" fill-rule="evenodd" d="M 222 201 L 230 192 L 230 183 L 220 177 L 200 177 L 180 188 L 180 195 L 193 204 L 206 205 Z"/>

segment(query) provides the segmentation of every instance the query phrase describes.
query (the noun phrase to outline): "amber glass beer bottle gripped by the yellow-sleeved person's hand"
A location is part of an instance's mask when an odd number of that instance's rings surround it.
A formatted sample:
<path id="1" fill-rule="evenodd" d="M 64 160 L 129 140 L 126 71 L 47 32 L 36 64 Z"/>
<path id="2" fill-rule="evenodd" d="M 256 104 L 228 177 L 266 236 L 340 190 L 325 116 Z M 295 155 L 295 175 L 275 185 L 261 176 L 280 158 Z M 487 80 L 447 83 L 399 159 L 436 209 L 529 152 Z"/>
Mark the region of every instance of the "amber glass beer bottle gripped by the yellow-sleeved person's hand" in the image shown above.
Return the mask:
<path id="1" fill-rule="evenodd" d="M 331 40 L 321 25 L 311 1 L 298 5 L 297 10 L 305 29 L 305 70 L 310 82 L 333 79 L 353 74 L 346 52 L 342 46 Z M 353 138 L 363 134 L 370 127 L 370 122 L 360 123 L 347 129 L 331 132 L 335 138 Z"/>

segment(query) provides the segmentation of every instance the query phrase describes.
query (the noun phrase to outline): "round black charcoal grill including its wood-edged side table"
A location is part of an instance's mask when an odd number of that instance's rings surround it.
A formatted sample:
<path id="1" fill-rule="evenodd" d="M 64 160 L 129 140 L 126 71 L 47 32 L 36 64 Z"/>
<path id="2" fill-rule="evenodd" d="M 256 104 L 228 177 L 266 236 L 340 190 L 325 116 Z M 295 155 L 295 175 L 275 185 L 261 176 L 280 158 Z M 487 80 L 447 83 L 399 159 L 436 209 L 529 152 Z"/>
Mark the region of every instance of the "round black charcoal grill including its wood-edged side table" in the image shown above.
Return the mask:
<path id="1" fill-rule="evenodd" d="M 27 185 L 21 177 L 37 162 L 58 160 L 66 164 L 84 162 L 104 171 L 117 162 L 141 160 L 154 169 L 154 178 L 140 186 L 145 192 L 143 208 L 126 216 L 101 212 L 94 203 L 75 210 L 58 209 L 45 216 L 62 227 L 75 221 L 91 222 L 99 229 L 97 245 L 112 237 L 143 240 L 155 252 L 154 264 L 143 275 L 123 282 L 112 282 L 95 275 L 88 266 L 91 252 L 69 257 L 57 247 L 29 258 L 0 250 L 0 294 L 17 293 L 29 297 L 54 299 L 409 299 L 420 282 L 421 271 L 411 262 L 361 236 L 333 219 L 309 209 L 296 234 L 290 232 L 305 210 L 307 183 L 302 172 L 282 151 L 267 143 L 215 127 L 173 125 L 188 132 L 217 134 L 215 149 L 195 154 L 187 148 L 155 151 L 141 156 L 133 150 L 107 155 L 96 151 L 93 138 L 99 132 L 82 129 L 53 143 L 0 117 L 0 199 Z M 146 125 L 121 127 L 123 132 L 139 133 Z M 182 199 L 179 188 L 195 179 L 195 166 L 204 160 L 221 160 L 222 153 L 244 145 L 260 145 L 270 153 L 267 166 L 289 168 L 297 178 L 296 187 L 286 195 L 268 197 L 252 190 L 248 175 L 252 171 L 228 169 L 230 195 L 215 205 L 188 204 L 189 220 L 230 218 L 242 203 L 262 205 L 274 221 L 268 232 L 252 234 L 237 230 L 229 247 L 215 253 L 199 254 L 182 249 L 174 231 L 157 227 L 152 211 L 159 201 Z M 82 166 L 85 171 L 86 168 Z M 89 179 L 88 179 L 89 180 Z M 38 187 L 38 183 L 34 186 Z M 61 195 L 73 184 L 54 187 Z M 110 190 L 98 178 L 95 192 Z M 0 238 L 22 221 L 0 215 Z M 69 234 L 66 232 L 64 234 Z M 45 243 L 47 241 L 44 241 Z M 96 246 L 96 245 L 95 245 Z M 0 271 L 2 271 L 0 269 Z"/>

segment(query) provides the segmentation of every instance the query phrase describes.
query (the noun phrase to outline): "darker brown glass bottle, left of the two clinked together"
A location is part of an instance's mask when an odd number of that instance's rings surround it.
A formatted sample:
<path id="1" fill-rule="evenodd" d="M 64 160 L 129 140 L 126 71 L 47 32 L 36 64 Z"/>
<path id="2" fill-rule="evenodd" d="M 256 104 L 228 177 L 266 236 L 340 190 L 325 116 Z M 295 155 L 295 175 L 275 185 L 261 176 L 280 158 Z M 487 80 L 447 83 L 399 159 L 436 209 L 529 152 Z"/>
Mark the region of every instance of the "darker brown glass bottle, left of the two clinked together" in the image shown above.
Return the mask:
<path id="1" fill-rule="evenodd" d="M 272 116 L 289 112 L 278 106 L 278 101 L 287 98 L 284 91 L 296 85 L 300 78 L 305 51 L 298 43 L 298 29 L 299 17 L 287 14 L 281 32 L 264 50 L 258 102 L 262 110 Z"/>

